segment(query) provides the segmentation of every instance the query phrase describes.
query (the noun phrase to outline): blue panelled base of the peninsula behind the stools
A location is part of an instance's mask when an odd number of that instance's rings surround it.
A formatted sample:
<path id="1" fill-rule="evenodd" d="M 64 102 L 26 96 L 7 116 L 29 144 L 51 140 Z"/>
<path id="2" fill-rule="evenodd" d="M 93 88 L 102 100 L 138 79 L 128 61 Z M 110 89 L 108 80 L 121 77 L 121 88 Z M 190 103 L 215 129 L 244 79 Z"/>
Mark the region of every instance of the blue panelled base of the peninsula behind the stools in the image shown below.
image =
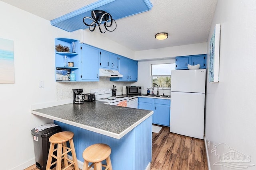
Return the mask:
<path id="1" fill-rule="evenodd" d="M 84 149 L 96 143 L 105 143 L 110 146 L 110 159 L 113 170 L 145 170 L 152 158 L 152 116 L 136 126 L 121 139 L 115 139 L 99 133 L 88 131 L 54 121 L 62 131 L 74 133 L 76 157 L 84 162 Z M 106 164 L 106 161 L 103 161 Z"/>

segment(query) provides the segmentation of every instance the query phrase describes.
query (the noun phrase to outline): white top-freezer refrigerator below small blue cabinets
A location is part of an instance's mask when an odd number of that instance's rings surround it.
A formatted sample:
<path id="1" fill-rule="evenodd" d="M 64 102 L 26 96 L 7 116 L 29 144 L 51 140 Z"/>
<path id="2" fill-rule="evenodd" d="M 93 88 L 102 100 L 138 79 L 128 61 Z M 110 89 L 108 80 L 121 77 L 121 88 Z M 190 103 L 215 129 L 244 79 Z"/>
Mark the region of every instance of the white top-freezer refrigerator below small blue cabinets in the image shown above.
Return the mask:
<path id="1" fill-rule="evenodd" d="M 170 132 L 204 139 L 206 69 L 173 70 Z"/>

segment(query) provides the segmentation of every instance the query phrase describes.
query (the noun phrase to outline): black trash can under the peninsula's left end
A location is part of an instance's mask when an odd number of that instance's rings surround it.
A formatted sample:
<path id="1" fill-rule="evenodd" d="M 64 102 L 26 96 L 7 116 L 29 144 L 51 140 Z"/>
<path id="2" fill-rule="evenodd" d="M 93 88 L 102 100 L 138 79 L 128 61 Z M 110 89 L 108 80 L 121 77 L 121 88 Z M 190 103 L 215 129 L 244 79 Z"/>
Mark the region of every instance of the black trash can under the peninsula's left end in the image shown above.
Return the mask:
<path id="1" fill-rule="evenodd" d="M 45 170 L 46 168 L 48 153 L 50 149 L 50 142 L 49 142 L 50 136 L 60 131 L 61 131 L 60 126 L 50 127 L 40 132 L 36 131 L 35 128 L 31 130 L 31 134 L 33 135 L 33 138 L 34 138 L 36 167 L 39 168 L 40 170 Z"/>

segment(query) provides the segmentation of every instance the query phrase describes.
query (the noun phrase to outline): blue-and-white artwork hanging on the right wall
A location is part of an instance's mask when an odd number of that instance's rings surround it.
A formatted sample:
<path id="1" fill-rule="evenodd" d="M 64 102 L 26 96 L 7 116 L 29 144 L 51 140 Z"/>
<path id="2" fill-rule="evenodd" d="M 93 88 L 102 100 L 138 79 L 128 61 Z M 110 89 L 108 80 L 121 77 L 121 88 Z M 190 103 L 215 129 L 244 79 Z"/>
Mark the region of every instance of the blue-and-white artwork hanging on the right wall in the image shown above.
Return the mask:
<path id="1" fill-rule="evenodd" d="M 220 23 L 215 25 L 210 41 L 209 82 L 219 82 Z"/>

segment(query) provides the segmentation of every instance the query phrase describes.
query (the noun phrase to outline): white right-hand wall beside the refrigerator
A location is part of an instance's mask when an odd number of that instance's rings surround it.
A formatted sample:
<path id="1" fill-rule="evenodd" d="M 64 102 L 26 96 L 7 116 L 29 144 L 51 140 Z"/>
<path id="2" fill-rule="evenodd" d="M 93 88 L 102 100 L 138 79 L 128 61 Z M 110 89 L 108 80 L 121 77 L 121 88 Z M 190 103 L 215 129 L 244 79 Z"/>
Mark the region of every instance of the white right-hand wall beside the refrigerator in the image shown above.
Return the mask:
<path id="1" fill-rule="evenodd" d="M 207 149 L 212 170 L 230 169 L 213 165 L 220 154 L 228 152 L 228 148 L 218 147 L 218 156 L 212 153 L 213 145 L 219 143 L 250 155 L 251 162 L 244 164 L 256 164 L 255 18 L 255 0 L 219 0 L 216 6 L 208 37 L 208 54 L 214 26 L 220 23 L 220 81 L 207 83 L 206 91 L 205 139 L 207 143 L 210 140 Z"/>

